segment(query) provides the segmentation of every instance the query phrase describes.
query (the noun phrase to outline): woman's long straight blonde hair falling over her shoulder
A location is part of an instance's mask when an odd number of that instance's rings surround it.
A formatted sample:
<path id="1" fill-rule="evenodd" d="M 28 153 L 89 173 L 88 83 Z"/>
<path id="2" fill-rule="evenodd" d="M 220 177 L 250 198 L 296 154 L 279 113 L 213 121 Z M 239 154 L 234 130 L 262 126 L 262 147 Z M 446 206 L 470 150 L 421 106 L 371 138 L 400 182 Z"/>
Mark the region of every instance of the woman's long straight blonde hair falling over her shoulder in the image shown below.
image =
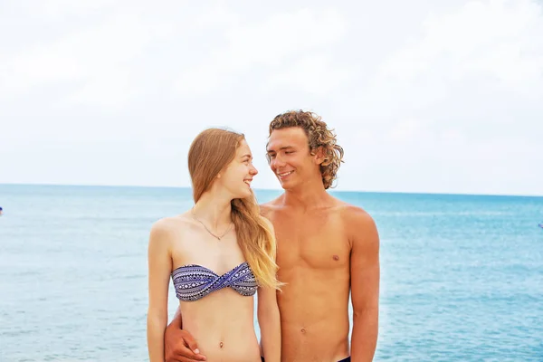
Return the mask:
<path id="1" fill-rule="evenodd" d="M 210 189 L 216 176 L 233 161 L 245 136 L 226 129 L 205 129 L 196 136 L 188 151 L 188 171 L 195 203 Z M 260 214 L 256 197 L 231 202 L 237 242 L 259 285 L 279 289 L 275 236 Z"/>

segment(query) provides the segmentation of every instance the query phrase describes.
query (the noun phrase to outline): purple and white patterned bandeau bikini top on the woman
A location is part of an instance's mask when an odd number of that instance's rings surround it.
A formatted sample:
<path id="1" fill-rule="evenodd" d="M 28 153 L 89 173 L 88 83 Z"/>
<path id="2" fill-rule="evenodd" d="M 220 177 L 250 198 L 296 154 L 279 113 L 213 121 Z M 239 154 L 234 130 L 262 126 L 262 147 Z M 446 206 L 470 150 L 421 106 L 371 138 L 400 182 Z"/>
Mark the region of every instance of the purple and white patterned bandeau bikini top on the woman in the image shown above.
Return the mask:
<path id="1" fill-rule="evenodd" d="M 212 291 L 226 287 L 232 288 L 243 296 L 251 297 L 258 284 L 247 262 L 219 276 L 201 265 L 184 265 L 172 271 L 172 281 L 179 300 L 193 301 L 204 298 Z"/>

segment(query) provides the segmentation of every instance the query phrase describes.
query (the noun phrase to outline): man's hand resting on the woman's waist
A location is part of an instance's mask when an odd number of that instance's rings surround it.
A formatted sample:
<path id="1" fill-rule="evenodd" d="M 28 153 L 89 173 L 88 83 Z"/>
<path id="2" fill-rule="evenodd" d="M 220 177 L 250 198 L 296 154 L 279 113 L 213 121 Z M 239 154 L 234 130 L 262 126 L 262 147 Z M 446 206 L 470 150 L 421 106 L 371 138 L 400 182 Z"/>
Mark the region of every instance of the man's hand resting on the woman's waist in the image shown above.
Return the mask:
<path id="1" fill-rule="evenodd" d="M 164 357 L 166 362 L 205 361 L 200 355 L 195 338 L 186 330 L 170 324 L 164 333 Z"/>

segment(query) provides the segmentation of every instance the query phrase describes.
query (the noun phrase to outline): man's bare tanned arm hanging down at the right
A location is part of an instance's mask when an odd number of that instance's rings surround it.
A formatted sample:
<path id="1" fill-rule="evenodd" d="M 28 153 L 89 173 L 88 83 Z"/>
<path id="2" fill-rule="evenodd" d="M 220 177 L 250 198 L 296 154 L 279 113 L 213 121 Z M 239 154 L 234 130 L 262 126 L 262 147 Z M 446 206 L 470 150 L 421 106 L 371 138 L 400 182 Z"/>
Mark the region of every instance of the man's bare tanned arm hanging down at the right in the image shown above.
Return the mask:
<path id="1" fill-rule="evenodd" d="M 351 359 L 370 362 L 376 352 L 379 319 L 379 234 L 374 220 L 361 209 L 350 210 L 351 299 L 353 332 Z"/>

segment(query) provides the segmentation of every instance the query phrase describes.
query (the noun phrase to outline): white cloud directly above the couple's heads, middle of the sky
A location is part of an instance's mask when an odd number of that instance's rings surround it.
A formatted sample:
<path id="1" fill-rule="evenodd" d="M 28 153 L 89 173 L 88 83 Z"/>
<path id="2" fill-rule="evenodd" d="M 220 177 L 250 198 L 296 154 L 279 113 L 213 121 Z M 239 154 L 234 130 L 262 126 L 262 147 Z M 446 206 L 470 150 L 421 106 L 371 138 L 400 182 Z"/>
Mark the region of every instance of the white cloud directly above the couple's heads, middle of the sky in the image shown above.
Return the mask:
<path id="1" fill-rule="evenodd" d="M 273 85 L 293 85 L 307 90 L 303 81 L 311 81 L 308 80 L 311 75 L 322 76 L 329 71 L 329 60 L 325 54 L 327 46 L 337 42 L 346 31 L 345 19 L 333 9 L 301 9 L 293 13 L 271 14 L 262 22 L 254 19 L 242 22 L 240 16 L 222 10 L 218 14 L 226 19 L 219 23 L 223 42 L 218 50 L 215 48 L 208 52 L 203 62 L 178 76 L 174 88 L 181 97 L 209 94 L 224 83 L 237 81 L 238 74 L 258 68 L 277 72 L 270 77 Z M 215 19 L 217 13 L 206 14 L 197 24 L 217 26 L 217 23 L 206 19 L 207 16 Z M 304 57 L 304 53 L 308 55 Z M 302 59 L 297 60 L 300 56 Z M 282 71 L 291 63 L 294 66 L 290 71 Z M 309 76 L 290 77 L 290 73 L 300 71 L 300 67 Z M 340 81 L 343 72 L 336 72 L 340 73 L 337 74 L 338 80 L 329 74 L 330 83 Z M 263 80 L 267 78 L 264 76 Z M 311 91 L 314 90 L 311 88 Z"/>

